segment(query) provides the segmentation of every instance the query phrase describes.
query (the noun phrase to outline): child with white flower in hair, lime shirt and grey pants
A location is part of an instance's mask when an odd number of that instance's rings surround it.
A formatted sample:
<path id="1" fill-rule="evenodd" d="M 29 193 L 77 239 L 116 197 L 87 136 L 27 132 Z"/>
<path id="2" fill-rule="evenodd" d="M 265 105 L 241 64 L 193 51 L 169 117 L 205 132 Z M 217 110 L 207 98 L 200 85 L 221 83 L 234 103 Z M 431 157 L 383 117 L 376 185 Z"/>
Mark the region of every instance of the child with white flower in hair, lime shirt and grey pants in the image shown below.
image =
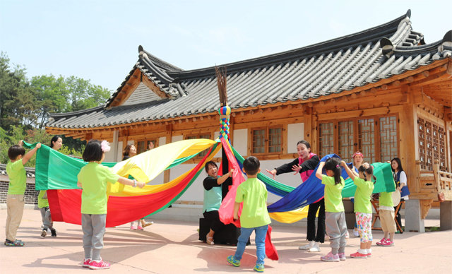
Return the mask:
<path id="1" fill-rule="evenodd" d="M 110 264 L 100 258 L 104 246 L 105 222 L 107 220 L 107 182 L 119 181 L 133 187 L 143 188 L 141 181 L 131 180 L 114 174 L 111 169 L 100 165 L 105 153 L 110 150 L 107 141 L 91 140 L 83 151 L 83 160 L 88 165 L 82 167 L 77 176 L 77 186 L 82 188 L 82 230 L 85 259 L 83 267 L 90 269 L 109 268 Z"/>

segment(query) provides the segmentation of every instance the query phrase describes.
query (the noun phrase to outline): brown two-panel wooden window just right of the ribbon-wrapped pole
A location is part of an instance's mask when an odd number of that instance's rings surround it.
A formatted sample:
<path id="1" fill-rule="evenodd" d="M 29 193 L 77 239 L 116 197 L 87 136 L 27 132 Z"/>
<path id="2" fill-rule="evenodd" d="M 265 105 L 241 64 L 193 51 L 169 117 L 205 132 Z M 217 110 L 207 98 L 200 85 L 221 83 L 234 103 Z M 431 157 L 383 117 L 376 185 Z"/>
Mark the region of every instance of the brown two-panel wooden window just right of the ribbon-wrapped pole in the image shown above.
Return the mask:
<path id="1" fill-rule="evenodd" d="M 283 151 L 283 128 L 251 129 L 251 153 L 281 153 Z"/>

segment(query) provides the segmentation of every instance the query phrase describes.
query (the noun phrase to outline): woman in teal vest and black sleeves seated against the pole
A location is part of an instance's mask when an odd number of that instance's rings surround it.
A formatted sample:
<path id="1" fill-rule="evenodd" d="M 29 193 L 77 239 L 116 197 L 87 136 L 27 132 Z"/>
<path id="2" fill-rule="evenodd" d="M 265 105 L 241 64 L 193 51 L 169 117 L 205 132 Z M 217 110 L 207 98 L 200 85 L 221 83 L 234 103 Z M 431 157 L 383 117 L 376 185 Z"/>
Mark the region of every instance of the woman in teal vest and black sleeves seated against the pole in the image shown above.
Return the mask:
<path id="1" fill-rule="evenodd" d="M 218 215 L 218 210 L 220 210 L 221 198 L 222 198 L 222 187 L 221 184 L 226 181 L 228 177 L 232 176 L 234 169 L 227 172 L 222 177 L 218 176 L 217 164 L 213 161 L 206 162 L 206 172 L 208 177 L 204 179 L 204 203 L 203 203 L 203 215 L 204 219 L 209 223 L 210 231 L 206 235 L 207 244 L 213 243 L 213 234 L 215 232 L 222 230 L 225 226 L 220 221 L 220 215 Z"/>

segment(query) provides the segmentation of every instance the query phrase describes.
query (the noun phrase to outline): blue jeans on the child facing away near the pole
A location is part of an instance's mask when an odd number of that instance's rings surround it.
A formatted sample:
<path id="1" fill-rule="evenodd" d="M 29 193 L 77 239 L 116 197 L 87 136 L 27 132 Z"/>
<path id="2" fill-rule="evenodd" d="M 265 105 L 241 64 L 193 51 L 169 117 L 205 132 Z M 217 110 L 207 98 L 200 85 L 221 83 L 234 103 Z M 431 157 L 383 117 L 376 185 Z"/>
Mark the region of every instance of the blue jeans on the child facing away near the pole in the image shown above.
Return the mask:
<path id="1" fill-rule="evenodd" d="M 263 259 L 266 258 L 266 234 L 268 230 L 268 225 L 263 225 L 261 227 L 251 227 L 240 229 L 240 236 L 237 242 L 237 250 L 235 251 L 234 258 L 237 261 L 242 260 L 242 255 L 245 251 L 246 242 L 248 242 L 249 237 L 253 230 L 256 233 L 256 264 L 263 264 Z"/>

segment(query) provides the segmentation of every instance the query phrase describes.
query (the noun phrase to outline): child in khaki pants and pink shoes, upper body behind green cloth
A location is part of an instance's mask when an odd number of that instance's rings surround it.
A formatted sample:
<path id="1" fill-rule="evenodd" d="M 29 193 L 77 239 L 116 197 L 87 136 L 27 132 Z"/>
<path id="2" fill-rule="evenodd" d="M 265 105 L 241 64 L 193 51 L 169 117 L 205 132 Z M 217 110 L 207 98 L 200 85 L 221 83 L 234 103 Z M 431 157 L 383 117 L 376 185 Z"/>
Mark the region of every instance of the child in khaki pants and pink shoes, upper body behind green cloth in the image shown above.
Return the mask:
<path id="1" fill-rule="evenodd" d="M 395 185 L 396 183 L 394 183 Z M 381 230 L 384 232 L 383 239 L 377 242 L 377 246 L 393 246 L 394 233 L 396 232 L 396 221 L 394 220 L 394 203 L 392 192 L 381 192 L 379 198 L 379 216 Z"/>

